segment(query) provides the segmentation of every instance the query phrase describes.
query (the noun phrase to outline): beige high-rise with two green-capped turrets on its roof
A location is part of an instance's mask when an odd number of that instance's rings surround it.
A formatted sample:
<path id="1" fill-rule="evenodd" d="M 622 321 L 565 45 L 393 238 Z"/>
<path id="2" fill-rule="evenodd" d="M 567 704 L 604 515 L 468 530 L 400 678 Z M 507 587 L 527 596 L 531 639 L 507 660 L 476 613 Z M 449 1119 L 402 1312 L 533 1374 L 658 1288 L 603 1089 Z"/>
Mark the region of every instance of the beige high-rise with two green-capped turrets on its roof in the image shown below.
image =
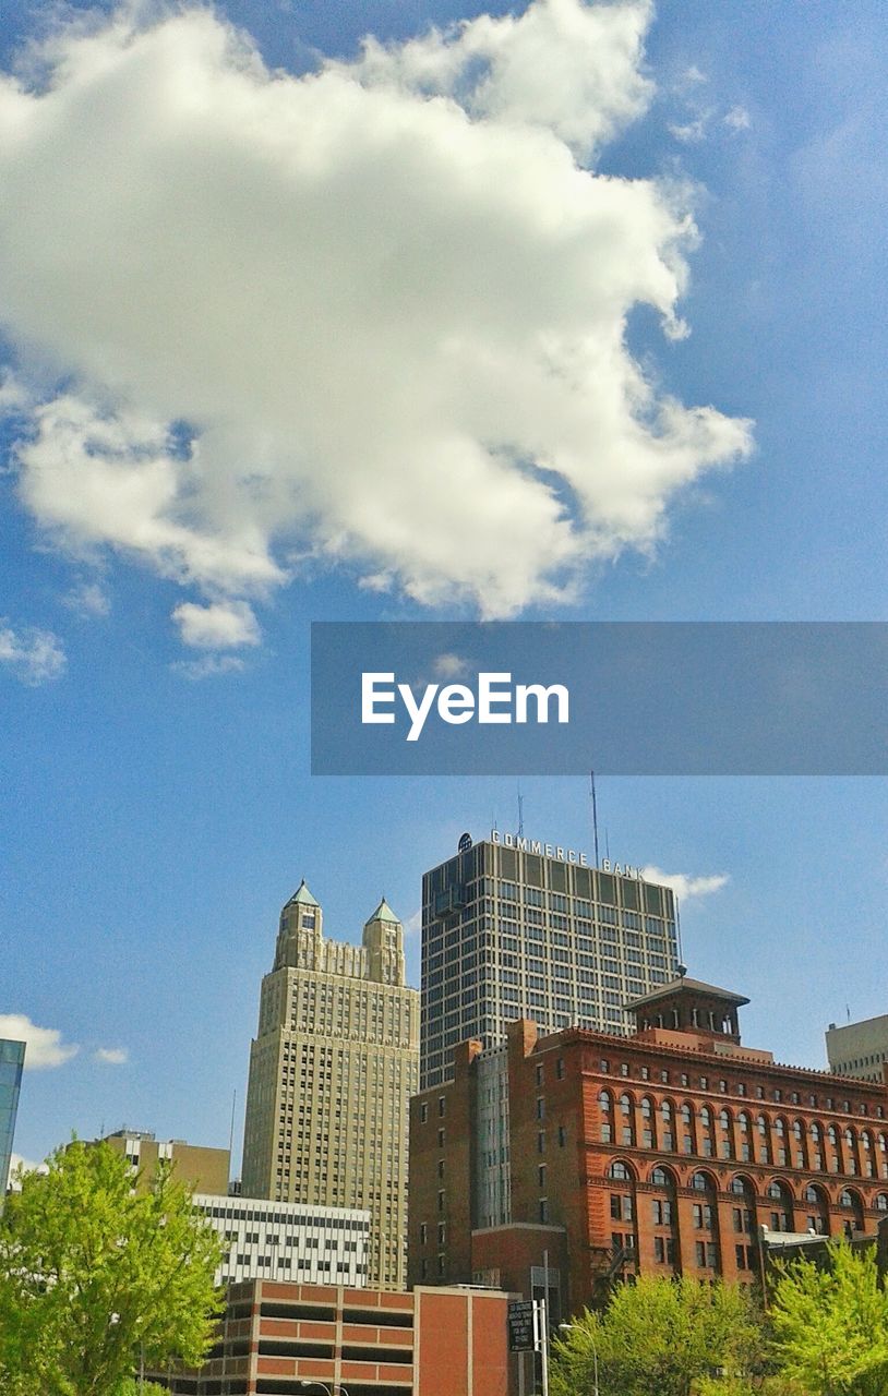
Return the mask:
<path id="1" fill-rule="evenodd" d="M 408 1101 L 419 1085 L 419 993 L 383 899 L 363 944 L 324 938 L 304 881 L 281 912 L 250 1048 L 243 1192 L 371 1216 L 367 1283 L 406 1283 Z M 331 1276 L 335 1283 L 335 1276 Z"/>

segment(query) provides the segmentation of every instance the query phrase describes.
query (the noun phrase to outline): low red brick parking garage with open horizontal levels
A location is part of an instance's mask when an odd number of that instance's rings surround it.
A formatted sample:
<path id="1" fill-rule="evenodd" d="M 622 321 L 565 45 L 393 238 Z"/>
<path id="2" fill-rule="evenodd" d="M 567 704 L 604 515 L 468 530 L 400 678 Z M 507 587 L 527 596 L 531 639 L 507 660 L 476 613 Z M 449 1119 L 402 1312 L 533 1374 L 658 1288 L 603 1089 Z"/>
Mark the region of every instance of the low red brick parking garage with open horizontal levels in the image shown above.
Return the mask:
<path id="1" fill-rule="evenodd" d="M 152 1381 L 176 1396 L 514 1396 L 508 1300 L 250 1280 L 229 1287 L 204 1367 Z"/>

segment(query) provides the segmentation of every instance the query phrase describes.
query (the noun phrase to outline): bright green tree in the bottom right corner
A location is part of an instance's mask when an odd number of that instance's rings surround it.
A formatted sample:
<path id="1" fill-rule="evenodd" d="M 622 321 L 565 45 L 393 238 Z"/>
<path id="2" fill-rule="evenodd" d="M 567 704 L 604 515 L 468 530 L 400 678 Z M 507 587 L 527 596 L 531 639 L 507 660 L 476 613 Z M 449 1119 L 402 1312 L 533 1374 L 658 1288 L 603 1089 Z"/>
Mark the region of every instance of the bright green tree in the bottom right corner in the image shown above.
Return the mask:
<path id="1" fill-rule="evenodd" d="M 811 1396 L 888 1393 L 888 1291 L 880 1289 L 873 1248 L 836 1241 L 822 1268 L 806 1259 L 787 1265 L 771 1323 L 780 1369 Z"/>

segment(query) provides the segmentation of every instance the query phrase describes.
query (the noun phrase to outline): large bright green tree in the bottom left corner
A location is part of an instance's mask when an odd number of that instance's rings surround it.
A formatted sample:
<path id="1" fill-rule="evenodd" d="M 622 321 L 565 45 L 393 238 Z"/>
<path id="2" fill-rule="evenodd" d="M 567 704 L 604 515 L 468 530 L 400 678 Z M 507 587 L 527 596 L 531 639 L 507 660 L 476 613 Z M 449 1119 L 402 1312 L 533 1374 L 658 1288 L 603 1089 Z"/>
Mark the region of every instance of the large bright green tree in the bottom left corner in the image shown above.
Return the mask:
<path id="1" fill-rule="evenodd" d="M 75 1141 L 27 1174 L 0 1216 L 0 1390 L 123 1396 L 169 1361 L 200 1362 L 221 1294 L 219 1241 L 188 1189 Z"/>

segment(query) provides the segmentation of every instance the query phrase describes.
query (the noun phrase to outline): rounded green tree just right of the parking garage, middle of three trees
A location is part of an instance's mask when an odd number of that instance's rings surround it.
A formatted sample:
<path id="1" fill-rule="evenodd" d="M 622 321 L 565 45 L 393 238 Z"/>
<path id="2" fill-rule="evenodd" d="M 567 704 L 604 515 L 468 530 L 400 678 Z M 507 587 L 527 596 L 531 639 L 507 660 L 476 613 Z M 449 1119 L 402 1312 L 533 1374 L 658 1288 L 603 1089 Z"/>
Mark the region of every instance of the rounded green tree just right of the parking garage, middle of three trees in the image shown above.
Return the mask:
<path id="1" fill-rule="evenodd" d="M 722 1371 L 741 1378 L 762 1351 L 760 1315 L 739 1286 L 641 1276 L 621 1284 L 603 1314 L 574 1319 L 556 1344 L 554 1396 L 688 1396 Z"/>

